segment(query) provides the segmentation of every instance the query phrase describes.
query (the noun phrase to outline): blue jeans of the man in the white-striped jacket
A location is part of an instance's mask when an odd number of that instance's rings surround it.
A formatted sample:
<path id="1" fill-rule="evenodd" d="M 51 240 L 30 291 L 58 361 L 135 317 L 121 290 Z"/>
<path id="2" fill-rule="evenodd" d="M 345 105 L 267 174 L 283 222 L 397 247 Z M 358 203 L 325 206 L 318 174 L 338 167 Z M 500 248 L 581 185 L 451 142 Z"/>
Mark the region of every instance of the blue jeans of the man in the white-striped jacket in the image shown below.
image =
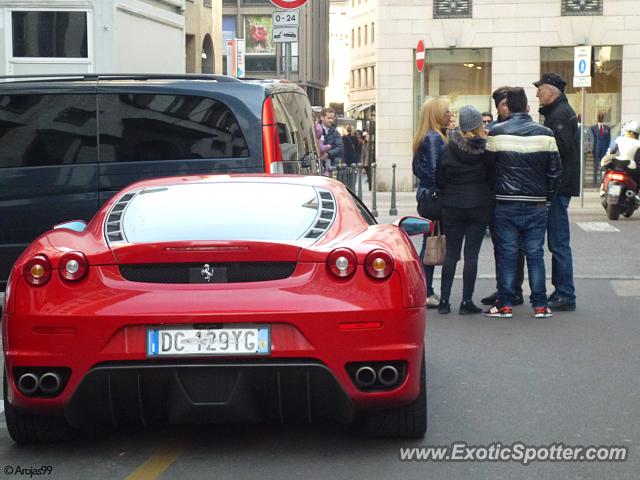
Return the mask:
<path id="1" fill-rule="evenodd" d="M 527 258 L 533 307 L 547 305 L 544 269 L 544 235 L 547 209 L 544 204 L 499 202 L 494 213 L 500 263 L 498 298 L 500 306 L 512 306 L 520 247 Z"/>

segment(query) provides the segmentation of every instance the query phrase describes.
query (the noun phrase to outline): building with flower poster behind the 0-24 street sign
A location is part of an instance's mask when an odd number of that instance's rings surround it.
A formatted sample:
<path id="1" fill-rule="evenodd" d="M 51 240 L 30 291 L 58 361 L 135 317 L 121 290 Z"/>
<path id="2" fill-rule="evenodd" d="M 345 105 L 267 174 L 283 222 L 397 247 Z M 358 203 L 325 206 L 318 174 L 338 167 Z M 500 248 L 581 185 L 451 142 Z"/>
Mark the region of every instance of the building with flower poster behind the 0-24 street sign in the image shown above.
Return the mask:
<path id="1" fill-rule="evenodd" d="M 245 76 L 284 78 L 285 48 L 273 41 L 272 13 L 277 8 L 269 0 L 222 0 L 222 45 L 245 40 Z M 309 0 L 297 10 L 298 41 L 291 42 L 291 81 L 304 88 L 311 105 L 325 104 L 329 82 L 329 0 Z M 226 72 L 226 58 L 223 59 Z"/>

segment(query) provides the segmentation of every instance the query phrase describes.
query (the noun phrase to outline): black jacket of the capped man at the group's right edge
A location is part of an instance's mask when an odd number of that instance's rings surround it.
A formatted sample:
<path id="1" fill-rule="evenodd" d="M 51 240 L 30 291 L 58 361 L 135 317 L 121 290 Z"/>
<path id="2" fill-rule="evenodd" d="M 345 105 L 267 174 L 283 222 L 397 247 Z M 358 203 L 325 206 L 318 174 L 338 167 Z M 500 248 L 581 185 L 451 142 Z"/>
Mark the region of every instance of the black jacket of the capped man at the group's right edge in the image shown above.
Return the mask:
<path id="1" fill-rule="evenodd" d="M 578 118 L 563 93 L 553 103 L 540 107 L 544 126 L 553 131 L 562 161 L 562 179 L 558 194 L 580 195 L 580 137 Z"/>

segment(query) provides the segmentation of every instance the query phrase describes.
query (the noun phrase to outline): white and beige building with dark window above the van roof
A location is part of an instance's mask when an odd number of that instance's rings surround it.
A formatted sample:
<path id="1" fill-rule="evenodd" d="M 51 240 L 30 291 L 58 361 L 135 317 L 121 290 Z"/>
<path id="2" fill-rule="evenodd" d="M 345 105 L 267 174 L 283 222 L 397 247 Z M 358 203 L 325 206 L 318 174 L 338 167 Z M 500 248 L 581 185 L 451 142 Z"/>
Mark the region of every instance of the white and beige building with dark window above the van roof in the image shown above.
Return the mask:
<path id="1" fill-rule="evenodd" d="M 0 0 L 0 69 L 183 73 L 185 0 Z"/>

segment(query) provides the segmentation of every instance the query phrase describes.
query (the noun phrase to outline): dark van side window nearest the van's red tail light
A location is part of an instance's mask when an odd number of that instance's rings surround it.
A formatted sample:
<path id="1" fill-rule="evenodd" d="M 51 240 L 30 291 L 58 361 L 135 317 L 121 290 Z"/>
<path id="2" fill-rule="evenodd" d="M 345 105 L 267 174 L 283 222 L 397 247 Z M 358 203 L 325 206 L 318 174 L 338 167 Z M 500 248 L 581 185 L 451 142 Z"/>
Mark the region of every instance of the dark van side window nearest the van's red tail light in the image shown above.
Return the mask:
<path id="1" fill-rule="evenodd" d="M 226 105 L 206 97 L 100 94 L 100 161 L 248 157 Z"/>

